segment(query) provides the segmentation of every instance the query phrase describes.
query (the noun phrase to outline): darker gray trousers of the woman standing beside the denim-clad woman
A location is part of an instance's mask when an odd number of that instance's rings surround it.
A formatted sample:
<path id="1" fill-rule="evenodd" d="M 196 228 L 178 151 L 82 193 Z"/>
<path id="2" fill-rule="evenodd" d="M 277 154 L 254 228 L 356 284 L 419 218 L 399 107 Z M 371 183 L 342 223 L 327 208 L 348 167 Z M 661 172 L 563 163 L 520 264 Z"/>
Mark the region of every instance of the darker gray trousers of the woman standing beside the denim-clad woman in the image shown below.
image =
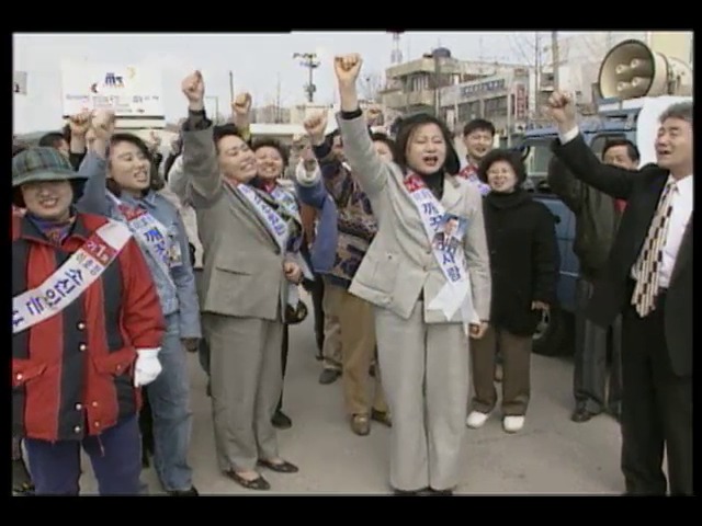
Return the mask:
<path id="1" fill-rule="evenodd" d="M 211 351 L 212 420 L 222 471 L 252 471 L 278 458 L 271 423 L 283 388 L 283 323 L 203 315 Z"/>

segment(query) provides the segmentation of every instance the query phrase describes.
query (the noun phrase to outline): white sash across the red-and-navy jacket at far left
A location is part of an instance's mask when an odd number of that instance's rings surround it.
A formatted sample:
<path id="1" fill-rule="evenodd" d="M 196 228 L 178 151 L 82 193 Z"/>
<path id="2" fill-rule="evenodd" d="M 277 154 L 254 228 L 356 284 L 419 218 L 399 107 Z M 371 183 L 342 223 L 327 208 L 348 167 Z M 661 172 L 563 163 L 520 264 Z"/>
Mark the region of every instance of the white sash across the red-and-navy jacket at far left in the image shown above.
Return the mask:
<path id="1" fill-rule="evenodd" d="M 78 299 L 117 258 L 132 233 L 109 219 L 38 287 L 12 298 L 12 333 L 58 315 Z"/>

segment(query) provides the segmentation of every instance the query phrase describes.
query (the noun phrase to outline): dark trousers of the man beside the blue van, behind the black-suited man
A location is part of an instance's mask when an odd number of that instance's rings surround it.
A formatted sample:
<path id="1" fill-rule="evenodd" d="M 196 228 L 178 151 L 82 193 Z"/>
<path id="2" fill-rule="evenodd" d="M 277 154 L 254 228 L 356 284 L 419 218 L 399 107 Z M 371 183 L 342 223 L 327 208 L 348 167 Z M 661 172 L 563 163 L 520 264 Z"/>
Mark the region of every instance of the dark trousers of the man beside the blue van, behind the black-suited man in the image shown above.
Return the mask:
<path id="1" fill-rule="evenodd" d="M 612 327 L 603 328 L 585 317 L 592 288 L 590 281 L 578 278 L 573 390 L 576 403 L 585 403 L 588 411 L 600 413 L 608 408 L 616 409 L 622 399 L 622 320 L 618 317 Z M 611 367 L 608 367 L 607 361 L 609 342 L 612 348 Z"/>

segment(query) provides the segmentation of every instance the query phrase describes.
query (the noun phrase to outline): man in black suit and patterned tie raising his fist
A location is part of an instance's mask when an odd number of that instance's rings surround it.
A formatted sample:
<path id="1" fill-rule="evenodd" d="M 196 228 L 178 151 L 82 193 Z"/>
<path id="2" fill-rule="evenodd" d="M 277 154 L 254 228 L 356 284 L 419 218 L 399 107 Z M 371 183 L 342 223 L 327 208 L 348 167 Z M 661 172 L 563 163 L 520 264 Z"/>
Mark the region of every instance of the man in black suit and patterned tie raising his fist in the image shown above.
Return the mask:
<path id="1" fill-rule="evenodd" d="M 656 164 L 600 163 L 580 135 L 570 98 L 554 92 L 555 156 L 584 183 L 626 201 L 588 316 L 621 312 L 622 471 L 627 494 L 693 494 L 692 103 L 670 105 L 655 138 Z M 668 478 L 663 472 L 664 447 Z"/>

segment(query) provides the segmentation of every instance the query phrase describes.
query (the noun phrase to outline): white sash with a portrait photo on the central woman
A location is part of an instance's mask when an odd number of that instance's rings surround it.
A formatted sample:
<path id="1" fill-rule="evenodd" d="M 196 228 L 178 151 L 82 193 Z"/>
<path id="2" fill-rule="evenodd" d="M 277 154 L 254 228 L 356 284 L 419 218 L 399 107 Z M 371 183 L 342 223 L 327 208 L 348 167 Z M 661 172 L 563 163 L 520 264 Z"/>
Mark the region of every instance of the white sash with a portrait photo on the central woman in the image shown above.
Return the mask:
<path id="1" fill-rule="evenodd" d="M 454 237 L 457 248 L 454 242 L 453 248 L 455 249 L 453 250 L 449 243 L 437 243 L 437 235 L 443 232 L 443 221 L 446 217 L 443 205 L 434 197 L 419 175 L 409 173 L 404 183 L 405 188 L 417 206 L 424 231 L 432 245 L 434 258 L 446 278 L 446 284 L 439 290 L 439 294 L 431 300 L 427 298 L 430 301 L 428 308 L 441 310 L 446 320 L 453 318 L 456 311 L 462 309 L 464 322 L 478 322 L 479 320 L 475 319 L 473 311 L 471 279 L 463 250 L 465 232 L 461 232 L 460 237 Z"/>

